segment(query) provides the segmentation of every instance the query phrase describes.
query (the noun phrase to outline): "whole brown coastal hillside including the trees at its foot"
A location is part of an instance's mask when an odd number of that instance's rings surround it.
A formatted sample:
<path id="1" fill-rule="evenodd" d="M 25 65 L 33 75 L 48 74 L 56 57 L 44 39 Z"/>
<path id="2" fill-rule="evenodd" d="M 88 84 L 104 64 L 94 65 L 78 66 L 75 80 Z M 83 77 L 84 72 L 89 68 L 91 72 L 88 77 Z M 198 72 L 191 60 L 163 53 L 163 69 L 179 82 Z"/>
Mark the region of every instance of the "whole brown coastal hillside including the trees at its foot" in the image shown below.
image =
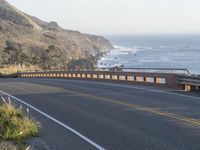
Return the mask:
<path id="1" fill-rule="evenodd" d="M 72 59 L 87 59 L 111 48 L 101 36 L 63 29 L 56 22 L 42 21 L 0 0 L 1 66 L 65 67 Z M 15 51 L 23 60 L 10 58 Z"/>

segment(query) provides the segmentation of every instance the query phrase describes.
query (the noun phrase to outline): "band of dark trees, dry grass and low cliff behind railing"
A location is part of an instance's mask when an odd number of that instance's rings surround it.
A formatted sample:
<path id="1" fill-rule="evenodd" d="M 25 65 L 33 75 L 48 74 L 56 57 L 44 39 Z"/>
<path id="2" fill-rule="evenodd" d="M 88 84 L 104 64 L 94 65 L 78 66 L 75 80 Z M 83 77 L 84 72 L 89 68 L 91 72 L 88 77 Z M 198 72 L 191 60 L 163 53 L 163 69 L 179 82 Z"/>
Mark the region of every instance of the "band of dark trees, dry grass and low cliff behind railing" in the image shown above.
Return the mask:
<path id="1" fill-rule="evenodd" d="M 64 52 L 55 45 L 50 45 L 39 55 L 29 56 L 19 43 L 6 41 L 5 48 L 0 50 L 0 73 L 10 74 L 25 70 L 48 70 L 55 68 L 94 69 L 97 56 L 87 59 L 69 60 Z"/>

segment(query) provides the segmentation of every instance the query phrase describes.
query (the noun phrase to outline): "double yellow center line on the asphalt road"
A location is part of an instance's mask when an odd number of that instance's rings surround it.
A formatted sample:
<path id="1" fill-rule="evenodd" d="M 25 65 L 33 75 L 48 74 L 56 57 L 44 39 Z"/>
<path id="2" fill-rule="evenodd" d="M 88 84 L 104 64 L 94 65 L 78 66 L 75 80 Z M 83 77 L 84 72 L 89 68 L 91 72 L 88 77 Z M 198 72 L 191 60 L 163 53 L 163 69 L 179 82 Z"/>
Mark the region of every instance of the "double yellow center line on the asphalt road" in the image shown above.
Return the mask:
<path id="1" fill-rule="evenodd" d="M 126 106 L 126 107 L 129 107 L 129 108 L 150 112 L 152 114 L 156 114 L 156 115 L 159 115 L 159 116 L 165 116 L 165 117 L 168 117 L 168 118 L 188 122 L 188 123 L 191 123 L 193 125 L 200 125 L 200 120 L 198 120 L 198 119 L 181 116 L 181 115 L 177 115 L 177 114 L 174 114 L 174 113 L 163 112 L 163 111 L 160 111 L 160 110 L 157 110 L 157 109 L 154 109 L 154 108 L 144 107 L 144 106 L 140 106 L 140 105 L 136 105 L 136 104 L 132 104 L 132 103 L 128 103 L 128 102 L 122 102 L 120 100 L 117 101 L 117 100 L 111 99 L 111 98 L 94 96 L 94 95 L 81 93 L 81 92 L 77 92 L 77 91 L 73 91 L 73 90 L 67 90 L 67 89 L 65 91 L 68 92 L 68 93 L 71 93 L 71 94 L 76 94 L 76 95 L 79 95 L 79 96 L 88 97 L 88 98 L 101 100 L 101 101 L 103 100 L 103 101 L 106 101 L 106 102 L 110 102 L 112 104 L 118 104 L 118 105 Z"/>

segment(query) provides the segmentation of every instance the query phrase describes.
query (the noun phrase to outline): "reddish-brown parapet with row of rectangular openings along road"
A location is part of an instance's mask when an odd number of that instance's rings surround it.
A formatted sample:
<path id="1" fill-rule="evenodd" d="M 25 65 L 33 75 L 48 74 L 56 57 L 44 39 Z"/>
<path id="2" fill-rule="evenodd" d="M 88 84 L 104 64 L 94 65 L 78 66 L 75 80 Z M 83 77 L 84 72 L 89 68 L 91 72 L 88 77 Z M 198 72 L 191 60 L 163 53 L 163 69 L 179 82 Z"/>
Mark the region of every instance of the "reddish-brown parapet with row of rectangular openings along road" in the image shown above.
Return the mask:
<path id="1" fill-rule="evenodd" d="M 72 79 L 85 79 L 85 80 L 103 80 L 112 82 L 129 82 L 129 83 L 143 83 L 150 85 L 167 86 L 176 88 L 176 76 L 171 73 L 158 73 L 153 71 L 122 71 L 119 68 L 101 68 L 93 71 L 89 70 L 42 70 L 42 71 L 29 71 L 18 74 L 22 78 L 72 78 Z M 121 68 L 120 68 L 121 69 Z M 126 68 L 130 69 L 130 68 Z M 131 68 L 132 69 L 132 68 Z M 137 68 L 138 69 L 138 68 Z M 184 70 L 185 71 L 185 70 Z M 182 72 L 181 75 L 183 75 Z"/>

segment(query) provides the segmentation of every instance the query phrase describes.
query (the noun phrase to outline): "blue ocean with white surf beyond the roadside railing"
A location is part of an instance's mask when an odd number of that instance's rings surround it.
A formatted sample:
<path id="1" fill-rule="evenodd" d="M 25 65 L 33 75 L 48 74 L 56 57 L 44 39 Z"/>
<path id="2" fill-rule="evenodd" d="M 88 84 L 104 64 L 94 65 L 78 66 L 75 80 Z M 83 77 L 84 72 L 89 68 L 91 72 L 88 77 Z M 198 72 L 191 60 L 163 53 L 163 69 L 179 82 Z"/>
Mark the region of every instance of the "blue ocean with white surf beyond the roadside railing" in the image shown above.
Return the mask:
<path id="1" fill-rule="evenodd" d="M 200 35 L 106 36 L 114 46 L 98 67 L 185 68 L 200 74 Z"/>

